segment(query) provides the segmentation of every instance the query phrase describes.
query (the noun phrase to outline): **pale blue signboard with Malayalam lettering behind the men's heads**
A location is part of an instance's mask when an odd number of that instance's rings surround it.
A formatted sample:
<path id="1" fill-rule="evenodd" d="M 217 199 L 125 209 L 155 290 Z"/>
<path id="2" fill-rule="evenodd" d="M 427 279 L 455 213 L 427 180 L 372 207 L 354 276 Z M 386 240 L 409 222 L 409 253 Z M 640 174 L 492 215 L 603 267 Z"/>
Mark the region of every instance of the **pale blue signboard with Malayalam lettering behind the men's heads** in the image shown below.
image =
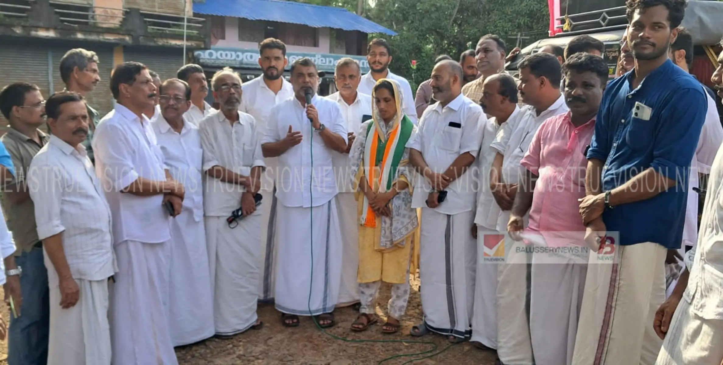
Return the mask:
<path id="1" fill-rule="evenodd" d="M 195 51 L 194 58 L 196 62 L 201 66 L 218 66 L 218 67 L 237 67 L 246 69 L 260 69 L 259 67 L 259 50 L 249 48 L 216 48 L 205 49 L 202 51 Z M 323 72 L 333 73 L 336 67 L 336 63 L 344 58 L 351 57 L 356 59 L 361 66 L 361 73 L 369 72 L 369 62 L 364 56 L 351 56 L 346 54 L 336 53 L 305 53 L 305 52 L 286 52 L 286 58 L 288 59 L 288 66 L 286 70 L 290 69 L 291 64 L 297 59 L 309 57 L 317 65 L 317 69 Z"/>

